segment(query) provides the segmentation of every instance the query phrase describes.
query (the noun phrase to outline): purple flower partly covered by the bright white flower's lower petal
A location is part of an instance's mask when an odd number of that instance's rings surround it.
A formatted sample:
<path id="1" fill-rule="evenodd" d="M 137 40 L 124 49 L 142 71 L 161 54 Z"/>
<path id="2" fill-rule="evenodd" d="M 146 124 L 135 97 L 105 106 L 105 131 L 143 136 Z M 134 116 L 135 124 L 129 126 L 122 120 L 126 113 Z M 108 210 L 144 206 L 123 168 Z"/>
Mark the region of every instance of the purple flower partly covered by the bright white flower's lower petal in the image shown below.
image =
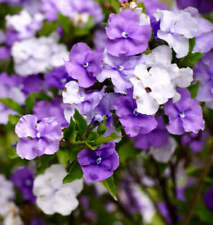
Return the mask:
<path id="1" fill-rule="evenodd" d="M 114 109 L 126 134 L 130 137 L 147 134 L 157 126 L 154 116 L 137 113 L 136 102 L 130 95 L 118 97 Z"/>

